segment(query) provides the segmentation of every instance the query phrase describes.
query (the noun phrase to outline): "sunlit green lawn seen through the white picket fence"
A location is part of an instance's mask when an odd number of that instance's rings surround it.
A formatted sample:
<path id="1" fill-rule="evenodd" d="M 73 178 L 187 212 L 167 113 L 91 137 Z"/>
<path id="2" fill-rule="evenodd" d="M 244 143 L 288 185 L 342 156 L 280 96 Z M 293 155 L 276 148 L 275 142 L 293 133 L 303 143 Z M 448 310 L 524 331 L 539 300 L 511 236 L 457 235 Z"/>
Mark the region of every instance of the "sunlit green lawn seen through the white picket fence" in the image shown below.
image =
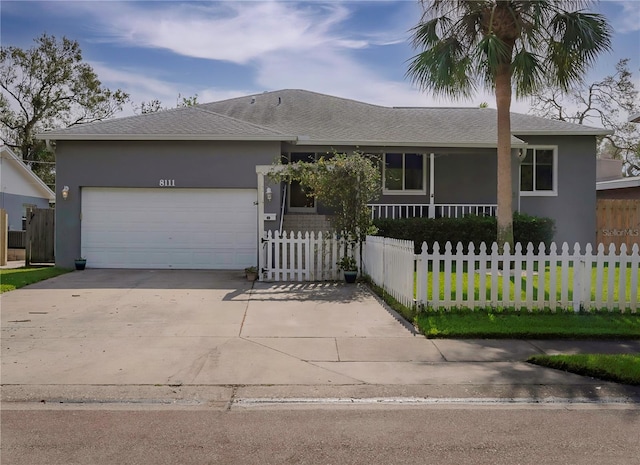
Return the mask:
<path id="1" fill-rule="evenodd" d="M 619 293 L 620 270 L 618 268 L 615 268 L 614 270 L 612 270 L 613 286 L 611 287 L 609 286 L 609 272 L 610 270 L 606 267 L 602 270 L 603 285 L 601 289 L 600 300 L 605 303 L 609 298 L 610 292 L 613 292 L 614 302 L 617 301 L 618 293 Z M 591 300 L 595 301 L 596 294 L 597 294 L 597 289 L 596 289 L 597 269 L 595 268 L 595 266 L 593 267 L 591 273 L 592 273 Z M 562 292 L 560 289 L 561 287 L 560 282 L 562 279 L 562 269 L 560 267 L 557 267 L 555 270 L 555 279 L 553 283 L 555 286 L 555 289 L 553 291 L 551 289 L 552 274 L 549 266 L 547 266 L 544 269 L 543 273 L 538 273 L 537 269 L 534 270 L 534 273 L 531 275 L 530 278 L 526 275 L 526 271 L 523 271 L 519 279 L 516 279 L 512 275 L 508 278 L 508 300 L 512 302 L 515 301 L 516 281 L 518 281 L 520 301 L 524 301 L 526 299 L 526 292 L 528 287 L 530 287 L 534 302 L 538 301 L 539 293 L 541 292 L 540 290 L 542 290 L 542 292 L 544 292 L 544 296 L 543 296 L 544 301 L 548 302 L 550 300 L 549 298 L 550 293 L 554 292 L 555 300 L 558 302 L 566 303 L 565 306 L 568 307 L 569 303 L 573 301 L 573 268 L 569 268 L 567 270 L 566 275 L 567 275 L 568 289 L 566 290 L 565 295 L 562 295 Z M 440 291 L 439 300 L 441 301 L 444 300 L 445 298 L 444 278 L 445 278 L 445 272 L 441 270 L 439 273 L 439 283 L 438 283 L 438 287 Z M 632 289 L 631 273 L 627 272 L 625 278 L 626 278 L 625 279 L 625 290 L 626 290 L 625 300 L 629 301 L 631 298 L 631 289 Z M 451 271 L 451 288 L 449 291 L 449 298 L 452 301 L 456 299 L 456 293 L 458 288 L 460 288 L 462 291 L 463 301 L 466 301 L 468 299 L 469 293 L 471 292 L 471 288 L 469 285 L 469 273 L 467 272 L 466 269 L 462 271 L 461 283 L 458 282 L 459 280 L 460 280 L 460 277 L 458 276 L 455 270 L 455 267 L 453 267 Z M 473 295 L 474 295 L 474 301 L 476 302 L 480 298 L 480 281 L 481 281 L 480 275 L 478 273 L 473 273 Z M 430 270 L 427 276 L 427 300 L 428 301 L 432 301 L 434 297 L 433 282 L 434 282 L 434 273 Z M 485 299 L 488 301 L 491 301 L 492 291 L 494 291 L 492 289 L 491 274 L 487 273 L 484 276 L 484 282 L 485 282 L 485 288 L 486 288 Z M 505 295 L 505 293 L 507 292 L 502 276 L 497 277 L 496 285 L 497 285 L 497 289 L 495 289 L 494 291 L 496 294 L 494 299 L 497 301 L 502 301 L 503 295 Z M 640 286 L 638 286 L 635 290 L 636 290 L 636 300 L 640 302 Z"/>

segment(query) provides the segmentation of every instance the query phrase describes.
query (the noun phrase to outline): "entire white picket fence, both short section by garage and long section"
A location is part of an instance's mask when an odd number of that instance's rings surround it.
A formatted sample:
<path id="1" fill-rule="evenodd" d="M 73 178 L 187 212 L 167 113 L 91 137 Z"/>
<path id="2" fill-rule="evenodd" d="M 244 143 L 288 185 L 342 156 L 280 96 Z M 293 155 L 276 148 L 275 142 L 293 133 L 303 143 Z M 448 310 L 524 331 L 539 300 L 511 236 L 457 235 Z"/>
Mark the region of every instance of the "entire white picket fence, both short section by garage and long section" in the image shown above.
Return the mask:
<path id="1" fill-rule="evenodd" d="M 360 261 L 358 244 L 332 234 L 268 232 L 263 239 L 261 279 L 327 281 L 342 279 L 337 262 L 345 254 L 363 272 L 406 306 L 431 308 L 609 309 L 637 311 L 640 251 L 635 244 L 616 250 L 588 244 L 584 250 L 564 243 L 523 250 L 508 244 L 476 248 L 434 244 L 414 253 L 412 241 L 368 236 Z"/>

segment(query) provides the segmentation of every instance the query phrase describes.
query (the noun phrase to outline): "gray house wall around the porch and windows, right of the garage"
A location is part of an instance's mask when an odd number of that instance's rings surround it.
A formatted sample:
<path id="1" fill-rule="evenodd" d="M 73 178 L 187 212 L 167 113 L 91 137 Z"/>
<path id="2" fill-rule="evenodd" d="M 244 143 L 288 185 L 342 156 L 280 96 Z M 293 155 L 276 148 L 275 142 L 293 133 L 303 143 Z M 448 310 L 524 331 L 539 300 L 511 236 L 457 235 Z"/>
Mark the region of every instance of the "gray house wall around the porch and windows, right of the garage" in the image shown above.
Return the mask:
<path id="1" fill-rule="evenodd" d="M 558 195 L 520 197 L 520 166 L 512 157 L 513 209 L 535 216 L 553 218 L 554 240 L 558 243 L 594 243 L 595 241 L 595 136 L 518 136 L 531 145 L 558 146 Z M 335 147 L 351 153 L 354 147 Z M 329 147 L 295 147 L 284 151 L 325 153 Z M 442 149 L 411 147 L 359 147 L 365 153 L 435 153 L 435 203 L 495 204 L 497 202 L 497 159 L 495 149 Z M 427 165 L 427 169 L 429 166 Z M 383 195 L 375 203 L 429 203 L 429 175 L 425 195 Z M 328 213 L 321 206 L 319 213 Z"/>

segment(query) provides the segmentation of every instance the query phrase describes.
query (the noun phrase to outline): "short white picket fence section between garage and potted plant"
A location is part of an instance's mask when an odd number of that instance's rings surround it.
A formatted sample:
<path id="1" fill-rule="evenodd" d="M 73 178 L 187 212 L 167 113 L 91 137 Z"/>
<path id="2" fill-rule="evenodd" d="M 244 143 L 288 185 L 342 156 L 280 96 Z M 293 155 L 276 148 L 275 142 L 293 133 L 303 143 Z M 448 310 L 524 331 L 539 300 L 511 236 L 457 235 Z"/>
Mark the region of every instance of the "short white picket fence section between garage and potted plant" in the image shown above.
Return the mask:
<path id="1" fill-rule="evenodd" d="M 343 278 L 346 254 L 360 263 L 360 247 L 331 233 L 268 231 L 263 239 L 263 281 L 332 281 Z"/>

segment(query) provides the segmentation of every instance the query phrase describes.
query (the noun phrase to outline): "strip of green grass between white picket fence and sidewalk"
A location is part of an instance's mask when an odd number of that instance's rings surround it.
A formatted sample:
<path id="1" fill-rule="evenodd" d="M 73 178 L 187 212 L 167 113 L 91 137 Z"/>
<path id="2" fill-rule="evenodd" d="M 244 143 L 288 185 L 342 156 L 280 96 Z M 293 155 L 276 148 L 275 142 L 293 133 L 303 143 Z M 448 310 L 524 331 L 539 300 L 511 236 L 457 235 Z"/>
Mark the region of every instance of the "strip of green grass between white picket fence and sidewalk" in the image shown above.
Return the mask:
<path id="1" fill-rule="evenodd" d="M 441 310 L 415 323 L 428 338 L 640 339 L 640 313 Z"/>

